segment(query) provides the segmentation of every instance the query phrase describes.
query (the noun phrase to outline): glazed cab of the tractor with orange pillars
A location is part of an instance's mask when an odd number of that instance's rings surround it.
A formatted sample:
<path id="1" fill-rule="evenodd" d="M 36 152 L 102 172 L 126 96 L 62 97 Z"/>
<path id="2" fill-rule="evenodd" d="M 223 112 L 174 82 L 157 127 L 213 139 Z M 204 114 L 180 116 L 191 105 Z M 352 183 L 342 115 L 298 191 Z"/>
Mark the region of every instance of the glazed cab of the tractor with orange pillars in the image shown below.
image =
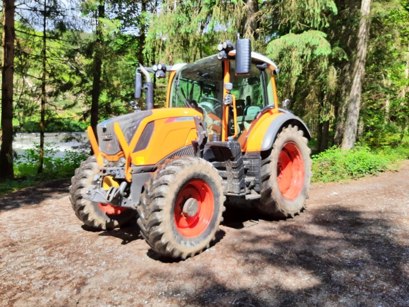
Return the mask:
<path id="1" fill-rule="evenodd" d="M 236 50 L 226 54 L 226 59 L 217 54 L 185 64 L 169 80 L 167 107 L 192 107 L 203 114 L 209 140 L 238 138 L 263 108 L 276 106 L 272 83 L 277 65 L 252 52 L 248 72 L 236 74 Z M 225 100 L 226 95 L 232 103 Z"/>

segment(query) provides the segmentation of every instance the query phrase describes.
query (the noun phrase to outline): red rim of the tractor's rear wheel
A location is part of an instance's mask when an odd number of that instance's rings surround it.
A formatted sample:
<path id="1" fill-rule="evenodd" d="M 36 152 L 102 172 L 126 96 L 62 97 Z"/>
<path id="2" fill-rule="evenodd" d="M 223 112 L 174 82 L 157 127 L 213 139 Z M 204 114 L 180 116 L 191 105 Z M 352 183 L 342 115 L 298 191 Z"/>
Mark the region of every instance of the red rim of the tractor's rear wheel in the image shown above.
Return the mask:
<path id="1" fill-rule="evenodd" d="M 294 200 L 304 185 L 304 160 L 300 149 L 293 142 L 281 148 L 277 161 L 277 183 L 281 194 L 287 200 Z"/>

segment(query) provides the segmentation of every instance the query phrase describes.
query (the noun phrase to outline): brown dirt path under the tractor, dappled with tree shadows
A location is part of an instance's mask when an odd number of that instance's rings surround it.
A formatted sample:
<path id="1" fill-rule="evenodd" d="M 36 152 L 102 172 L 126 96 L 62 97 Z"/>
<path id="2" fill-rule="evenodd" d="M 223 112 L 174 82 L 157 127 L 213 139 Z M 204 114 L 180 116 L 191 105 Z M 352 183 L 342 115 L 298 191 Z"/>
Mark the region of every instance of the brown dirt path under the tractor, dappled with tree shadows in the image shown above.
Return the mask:
<path id="1" fill-rule="evenodd" d="M 82 229 L 67 188 L 0 199 L 0 305 L 409 305 L 409 161 L 314 185 L 307 210 L 287 221 L 229 207 L 219 242 L 173 263 L 135 225 Z"/>

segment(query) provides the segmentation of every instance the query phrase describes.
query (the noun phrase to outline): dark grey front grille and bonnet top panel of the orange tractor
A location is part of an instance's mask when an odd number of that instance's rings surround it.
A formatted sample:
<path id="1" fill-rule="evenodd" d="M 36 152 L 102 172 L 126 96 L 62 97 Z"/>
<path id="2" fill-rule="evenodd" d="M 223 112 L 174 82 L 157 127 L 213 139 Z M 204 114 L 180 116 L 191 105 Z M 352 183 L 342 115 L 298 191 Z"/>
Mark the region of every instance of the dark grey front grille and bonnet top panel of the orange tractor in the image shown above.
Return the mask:
<path id="1" fill-rule="evenodd" d="M 97 134 L 101 151 L 106 155 L 113 156 L 121 150 L 118 138 L 113 130 L 115 122 L 121 127 L 122 133 L 129 144 L 141 121 L 150 115 L 152 115 L 152 111 L 141 111 L 117 116 L 99 123 L 97 125 Z"/>

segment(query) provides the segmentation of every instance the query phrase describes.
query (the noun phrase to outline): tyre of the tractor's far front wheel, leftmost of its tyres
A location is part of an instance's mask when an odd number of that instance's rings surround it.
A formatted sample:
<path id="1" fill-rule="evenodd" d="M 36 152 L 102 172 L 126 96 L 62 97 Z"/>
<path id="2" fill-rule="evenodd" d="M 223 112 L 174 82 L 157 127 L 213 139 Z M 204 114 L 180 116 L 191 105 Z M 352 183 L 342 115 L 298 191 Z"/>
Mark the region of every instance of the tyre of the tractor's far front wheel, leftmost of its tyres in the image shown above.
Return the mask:
<path id="1" fill-rule="evenodd" d="M 70 201 L 74 212 L 86 226 L 94 229 L 109 230 L 120 227 L 136 215 L 135 210 L 126 209 L 119 214 L 107 214 L 99 207 L 98 203 L 85 200 L 82 197 L 86 188 L 93 184 L 94 177 L 98 173 L 95 156 L 81 162 L 80 167 L 75 170 L 70 186 Z"/>

